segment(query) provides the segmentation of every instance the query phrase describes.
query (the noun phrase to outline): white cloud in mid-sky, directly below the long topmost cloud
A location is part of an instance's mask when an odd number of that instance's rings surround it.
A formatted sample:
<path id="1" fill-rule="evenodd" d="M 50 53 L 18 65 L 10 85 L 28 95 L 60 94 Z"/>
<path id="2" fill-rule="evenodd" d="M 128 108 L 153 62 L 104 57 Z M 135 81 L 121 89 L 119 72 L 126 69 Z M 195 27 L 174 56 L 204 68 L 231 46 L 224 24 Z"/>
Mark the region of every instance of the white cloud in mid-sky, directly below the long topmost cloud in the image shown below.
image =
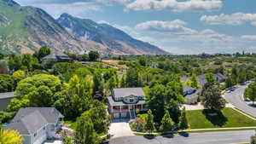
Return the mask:
<path id="1" fill-rule="evenodd" d="M 193 34 L 196 31 L 185 27 L 186 22 L 183 20 L 160 21 L 151 20 L 139 23 L 136 29 L 150 32 L 162 32 L 172 34 Z"/>

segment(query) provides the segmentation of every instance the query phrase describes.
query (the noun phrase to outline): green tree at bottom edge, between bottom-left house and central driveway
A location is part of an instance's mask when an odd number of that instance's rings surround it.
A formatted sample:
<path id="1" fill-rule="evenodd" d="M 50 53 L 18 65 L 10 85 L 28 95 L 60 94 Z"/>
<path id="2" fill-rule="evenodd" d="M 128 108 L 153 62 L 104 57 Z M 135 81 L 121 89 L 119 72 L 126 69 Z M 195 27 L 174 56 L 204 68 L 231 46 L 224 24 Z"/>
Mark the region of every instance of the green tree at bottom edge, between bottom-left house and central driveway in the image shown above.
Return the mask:
<path id="1" fill-rule="evenodd" d="M 82 114 L 77 118 L 77 127 L 75 132 L 75 143 L 77 144 L 97 144 L 99 138 L 94 130 L 90 117 Z"/>

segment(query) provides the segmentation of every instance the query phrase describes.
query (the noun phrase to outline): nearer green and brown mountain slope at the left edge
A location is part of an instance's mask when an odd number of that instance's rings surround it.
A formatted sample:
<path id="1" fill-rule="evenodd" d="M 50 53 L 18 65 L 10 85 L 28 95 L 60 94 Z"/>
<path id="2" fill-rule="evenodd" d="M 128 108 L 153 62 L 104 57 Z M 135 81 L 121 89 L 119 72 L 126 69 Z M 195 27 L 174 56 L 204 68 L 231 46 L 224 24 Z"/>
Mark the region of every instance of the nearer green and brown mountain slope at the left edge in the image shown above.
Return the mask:
<path id="1" fill-rule="evenodd" d="M 55 51 L 78 53 L 99 50 L 108 54 L 100 43 L 84 41 L 66 31 L 44 10 L 22 7 L 12 0 L 0 0 L 0 50 L 7 53 L 32 53 L 41 46 Z"/>

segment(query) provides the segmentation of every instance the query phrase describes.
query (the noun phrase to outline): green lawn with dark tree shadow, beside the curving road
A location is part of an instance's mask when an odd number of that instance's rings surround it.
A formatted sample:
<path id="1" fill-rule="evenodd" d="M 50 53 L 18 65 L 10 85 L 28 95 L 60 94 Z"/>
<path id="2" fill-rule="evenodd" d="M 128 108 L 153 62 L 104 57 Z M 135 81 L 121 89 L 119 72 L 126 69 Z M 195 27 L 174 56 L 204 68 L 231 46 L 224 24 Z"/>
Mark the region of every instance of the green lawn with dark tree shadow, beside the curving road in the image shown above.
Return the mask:
<path id="1" fill-rule="evenodd" d="M 206 110 L 187 111 L 190 129 L 230 128 L 256 126 L 256 121 L 247 118 L 232 108 L 224 108 L 216 116 Z"/>

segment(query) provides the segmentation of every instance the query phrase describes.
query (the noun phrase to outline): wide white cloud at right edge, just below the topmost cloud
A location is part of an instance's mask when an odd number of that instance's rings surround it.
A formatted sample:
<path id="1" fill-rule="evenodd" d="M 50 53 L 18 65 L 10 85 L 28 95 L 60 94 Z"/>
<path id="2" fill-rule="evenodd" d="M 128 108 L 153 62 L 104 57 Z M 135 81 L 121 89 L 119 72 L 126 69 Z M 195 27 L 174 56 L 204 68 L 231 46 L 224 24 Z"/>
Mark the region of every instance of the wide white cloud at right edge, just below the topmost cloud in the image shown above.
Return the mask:
<path id="1" fill-rule="evenodd" d="M 219 15 L 203 15 L 201 21 L 205 21 L 209 25 L 231 25 L 238 26 L 246 22 L 256 26 L 256 14 L 219 14 Z"/>

